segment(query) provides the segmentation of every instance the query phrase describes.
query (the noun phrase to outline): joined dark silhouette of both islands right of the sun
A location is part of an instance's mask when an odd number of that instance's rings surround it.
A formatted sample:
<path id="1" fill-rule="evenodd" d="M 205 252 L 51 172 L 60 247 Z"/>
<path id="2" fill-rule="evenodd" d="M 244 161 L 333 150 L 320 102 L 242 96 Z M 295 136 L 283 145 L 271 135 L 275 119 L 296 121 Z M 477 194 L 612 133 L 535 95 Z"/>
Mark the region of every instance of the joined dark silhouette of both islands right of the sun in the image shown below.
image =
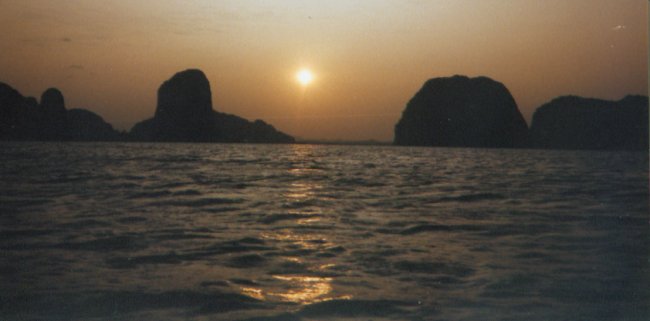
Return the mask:
<path id="1" fill-rule="evenodd" d="M 396 145 L 648 150 L 648 97 L 559 97 L 528 129 L 508 89 L 487 77 L 428 80 L 395 126 Z"/>

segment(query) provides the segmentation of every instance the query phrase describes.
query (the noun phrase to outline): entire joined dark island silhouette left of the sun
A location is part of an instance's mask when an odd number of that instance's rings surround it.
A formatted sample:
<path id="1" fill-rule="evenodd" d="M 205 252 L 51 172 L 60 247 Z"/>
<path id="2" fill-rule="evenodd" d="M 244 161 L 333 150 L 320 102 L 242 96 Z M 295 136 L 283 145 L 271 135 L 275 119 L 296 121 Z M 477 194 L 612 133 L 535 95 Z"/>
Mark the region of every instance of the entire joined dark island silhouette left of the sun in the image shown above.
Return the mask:
<path id="1" fill-rule="evenodd" d="M 46 90 L 40 104 L 0 83 L 0 140 L 293 143 L 262 120 L 212 109 L 210 83 L 198 69 L 179 72 L 158 90 L 155 115 L 120 133 L 85 109 L 66 110 L 63 94 Z"/>

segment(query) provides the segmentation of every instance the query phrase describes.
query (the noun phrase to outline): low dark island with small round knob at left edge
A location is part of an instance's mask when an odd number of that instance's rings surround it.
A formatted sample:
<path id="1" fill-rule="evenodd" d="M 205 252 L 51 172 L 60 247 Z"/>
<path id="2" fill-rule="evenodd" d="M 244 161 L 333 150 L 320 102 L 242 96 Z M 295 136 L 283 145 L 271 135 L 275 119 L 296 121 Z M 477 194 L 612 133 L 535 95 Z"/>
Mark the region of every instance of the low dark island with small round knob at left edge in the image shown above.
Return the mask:
<path id="1" fill-rule="evenodd" d="M 38 104 L 11 86 L 0 83 L 0 140 L 118 140 L 119 133 L 98 115 L 83 109 L 66 110 L 63 94 L 46 90 Z"/>

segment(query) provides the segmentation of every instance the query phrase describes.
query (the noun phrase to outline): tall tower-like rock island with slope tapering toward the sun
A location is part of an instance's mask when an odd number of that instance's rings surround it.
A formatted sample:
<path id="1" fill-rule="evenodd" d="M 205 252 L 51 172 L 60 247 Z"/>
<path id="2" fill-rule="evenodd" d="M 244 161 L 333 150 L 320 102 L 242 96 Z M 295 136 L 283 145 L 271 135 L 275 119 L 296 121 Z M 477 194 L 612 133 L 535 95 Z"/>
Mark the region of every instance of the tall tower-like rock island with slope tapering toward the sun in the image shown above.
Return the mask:
<path id="1" fill-rule="evenodd" d="M 153 118 L 137 123 L 133 140 L 178 142 L 292 143 L 293 137 L 257 120 L 212 109 L 210 82 L 197 69 L 177 73 L 158 89 Z"/>

